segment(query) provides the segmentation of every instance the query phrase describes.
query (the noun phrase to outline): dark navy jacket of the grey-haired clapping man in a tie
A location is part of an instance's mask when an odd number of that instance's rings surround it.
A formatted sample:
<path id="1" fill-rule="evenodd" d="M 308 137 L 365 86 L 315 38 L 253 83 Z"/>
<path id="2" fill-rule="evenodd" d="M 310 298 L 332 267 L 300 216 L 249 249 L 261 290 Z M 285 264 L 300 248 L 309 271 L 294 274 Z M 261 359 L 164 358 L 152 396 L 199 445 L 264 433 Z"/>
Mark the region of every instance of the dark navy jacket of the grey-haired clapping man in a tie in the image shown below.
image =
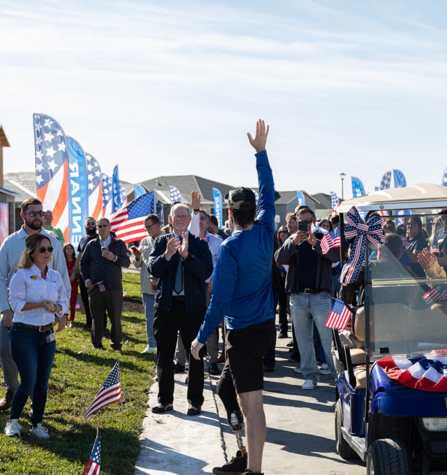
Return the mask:
<path id="1" fill-rule="evenodd" d="M 149 254 L 149 274 L 159 279 L 155 292 L 155 307 L 169 310 L 173 306 L 173 290 L 179 258 L 176 252 L 169 261 L 164 253 L 168 238 L 175 236 L 171 233 L 162 235 L 154 240 L 154 247 Z M 186 312 L 198 312 L 206 309 L 205 280 L 212 275 L 212 255 L 208 244 L 191 233 L 188 234 L 188 257 L 183 261 L 184 304 Z"/>

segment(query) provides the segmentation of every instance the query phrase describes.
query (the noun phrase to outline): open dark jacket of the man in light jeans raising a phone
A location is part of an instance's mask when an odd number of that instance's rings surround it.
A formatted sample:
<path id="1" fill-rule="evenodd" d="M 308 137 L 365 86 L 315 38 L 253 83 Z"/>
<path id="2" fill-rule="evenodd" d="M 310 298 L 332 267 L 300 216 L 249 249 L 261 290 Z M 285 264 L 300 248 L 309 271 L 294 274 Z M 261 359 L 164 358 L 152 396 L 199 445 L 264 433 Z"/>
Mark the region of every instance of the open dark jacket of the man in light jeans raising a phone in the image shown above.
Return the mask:
<path id="1" fill-rule="evenodd" d="M 330 249 L 328 254 L 323 254 L 320 240 L 321 233 L 315 233 L 316 244 L 314 251 L 318 254 L 316 265 L 316 289 L 318 291 L 332 290 L 332 263 L 340 260 L 340 249 Z M 288 238 L 286 242 L 274 253 L 274 258 L 278 264 L 288 265 L 286 277 L 286 293 L 298 293 L 298 265 L 300 255 L 299 247 L 293 244 L 293 240 Z"/>

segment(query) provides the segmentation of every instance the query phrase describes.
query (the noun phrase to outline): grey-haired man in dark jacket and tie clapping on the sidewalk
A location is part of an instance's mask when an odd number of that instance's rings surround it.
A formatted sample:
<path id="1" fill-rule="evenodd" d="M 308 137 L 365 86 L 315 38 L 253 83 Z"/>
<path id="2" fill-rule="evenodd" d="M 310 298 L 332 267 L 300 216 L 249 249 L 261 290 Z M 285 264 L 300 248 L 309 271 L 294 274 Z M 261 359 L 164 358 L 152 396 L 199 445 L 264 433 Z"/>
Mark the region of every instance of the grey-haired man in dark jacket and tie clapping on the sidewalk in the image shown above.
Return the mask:
<path id="1" fill-rule="evenodd" d="M 203 404 L 203 358 L 191 358 L 191 342 L 205 318 L 205 280 L 213 265 L 207 243 L 189 233 L 189 221 L 189 207 L 173 205 L 169 215 L 173 233 L 156 238 L 149 255 L 149 273 L 159 279 L 154 312 L 159 402 L 152 412 L 173 410 L 173 358 L 179 331 L 189 360 L 187 414 L 195 416 Z"/>

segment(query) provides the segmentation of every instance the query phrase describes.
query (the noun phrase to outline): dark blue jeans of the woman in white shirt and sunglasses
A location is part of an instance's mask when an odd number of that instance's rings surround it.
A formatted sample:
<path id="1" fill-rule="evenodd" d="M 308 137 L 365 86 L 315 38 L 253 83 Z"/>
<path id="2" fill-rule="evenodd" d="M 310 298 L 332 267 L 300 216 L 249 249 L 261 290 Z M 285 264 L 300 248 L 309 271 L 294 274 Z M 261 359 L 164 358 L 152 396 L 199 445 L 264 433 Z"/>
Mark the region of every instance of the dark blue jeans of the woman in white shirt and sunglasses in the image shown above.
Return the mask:
<path id="1" fill-rule="evenodd" d="M 47 402 L 48 379 L 56 353 L 56 340 L 47 343 L 52 330 L 39 332 L 14 323 L 9 332 L 9 344 L 14 362 L 20 374 L 20 385 L 14 393 L 11 419 L 20 418 L 24 405 L 34 388 L 33 415 L 31 424 L 36 427 L 42 422 Z"/>

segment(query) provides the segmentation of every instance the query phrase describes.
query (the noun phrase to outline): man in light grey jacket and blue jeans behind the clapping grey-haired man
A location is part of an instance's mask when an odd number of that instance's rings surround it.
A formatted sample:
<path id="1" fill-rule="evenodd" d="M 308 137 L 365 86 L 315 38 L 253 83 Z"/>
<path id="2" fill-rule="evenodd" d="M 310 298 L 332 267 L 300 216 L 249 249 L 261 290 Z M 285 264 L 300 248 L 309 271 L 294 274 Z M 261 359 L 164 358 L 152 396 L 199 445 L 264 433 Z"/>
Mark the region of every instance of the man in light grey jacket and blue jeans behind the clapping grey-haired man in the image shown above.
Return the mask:
<path id="1" fill-rule="evenodd" d="M 132 248 L 131 251 L 135 256 L 135 268 L 141 269 L 141 295 L 142 305 L 145 307 L 146 316 L 146 335 L 147 346 L 142 353 L 149 353 L 156 351 L 156 342 L 154 337 L 154 303 L 155 303 L 155 289 L 156 279 L 149 274 L 147 265 L 149 265 L 149 254 L 151 254 L 152 247 L 154 247 L 154 239 L 159 235 L 165 234 L 160 229 L 160 219 L 156 214 L 149 214 L 145 219 L 145 228 L 147 230 L 147 238 L 140 242 L 138 249 Z"/>

